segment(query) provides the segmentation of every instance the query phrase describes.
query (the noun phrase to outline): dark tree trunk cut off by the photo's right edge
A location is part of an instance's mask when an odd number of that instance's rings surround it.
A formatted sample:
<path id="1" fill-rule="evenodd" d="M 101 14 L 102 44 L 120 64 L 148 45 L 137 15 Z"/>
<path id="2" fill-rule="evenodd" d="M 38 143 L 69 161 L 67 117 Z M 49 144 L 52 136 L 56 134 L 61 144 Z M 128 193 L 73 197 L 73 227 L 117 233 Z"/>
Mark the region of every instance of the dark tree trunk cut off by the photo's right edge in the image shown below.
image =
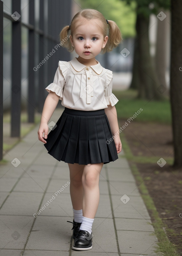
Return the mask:
<path id="1" fill-rule="evenodd" d="M 171 111 L 174 167 L 182 167 L 182 1 L 171 0 Z"/>

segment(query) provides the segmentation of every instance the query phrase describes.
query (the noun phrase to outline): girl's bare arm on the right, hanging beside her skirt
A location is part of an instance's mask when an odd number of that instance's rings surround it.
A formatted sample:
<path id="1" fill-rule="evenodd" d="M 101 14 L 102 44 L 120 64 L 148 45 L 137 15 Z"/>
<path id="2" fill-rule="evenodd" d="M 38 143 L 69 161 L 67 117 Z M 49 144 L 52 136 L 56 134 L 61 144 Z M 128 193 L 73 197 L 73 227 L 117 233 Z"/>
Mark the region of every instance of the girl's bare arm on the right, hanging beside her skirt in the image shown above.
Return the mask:
<path id="1" fill-rule="evenodd" d="M 119 137 L 119 126 L 118 126 L 116 107 L 108 105 L 108 108 L 105 109 L 105 113 L 107 115 L 109 125 L 111 127 L 112 135 L 117 133 L 117 136 L 114 136 L 114 143 L 116 145 L 117 153 L 120 153 L 122 150 L 122 144 Z"/>

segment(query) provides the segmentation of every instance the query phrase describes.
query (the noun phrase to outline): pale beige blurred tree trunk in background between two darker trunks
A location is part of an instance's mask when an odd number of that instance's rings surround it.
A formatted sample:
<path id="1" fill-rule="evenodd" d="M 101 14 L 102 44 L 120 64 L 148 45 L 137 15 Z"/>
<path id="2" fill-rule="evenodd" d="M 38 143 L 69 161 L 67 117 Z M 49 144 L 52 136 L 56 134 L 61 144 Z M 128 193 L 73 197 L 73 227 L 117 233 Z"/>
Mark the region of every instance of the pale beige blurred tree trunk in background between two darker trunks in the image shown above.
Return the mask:
<path id="1" fill-rule="evenodd" d="M 164 11 L 160 9 L 159 11 Z M 163 86 L 164 90 L 167 89 L 166 86 L 166 65 L 167 65 L 167 28 L 168 28 L 168 19 L 157 20 L 157 42 L 156 42 L 156 54 L 155 54 L 155 66 L 157 76 L 160 82 L 160 85 Z"/>

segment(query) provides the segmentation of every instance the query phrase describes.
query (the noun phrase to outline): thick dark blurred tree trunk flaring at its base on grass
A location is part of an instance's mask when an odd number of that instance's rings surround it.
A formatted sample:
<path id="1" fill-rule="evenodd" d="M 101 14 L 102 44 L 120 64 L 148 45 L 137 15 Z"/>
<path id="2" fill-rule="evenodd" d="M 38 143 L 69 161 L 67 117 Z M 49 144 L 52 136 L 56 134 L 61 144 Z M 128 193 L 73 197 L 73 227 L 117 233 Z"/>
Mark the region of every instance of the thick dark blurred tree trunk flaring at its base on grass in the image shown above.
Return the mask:
<path id="1" fill-rule="evenodd" d="M 150 55 L 149 45 L 149 16 L 137 14 L 136 30 L 139 48 L 139 77 L 138 97 L 148 100 L 163 98 L 159 80 Z"/>

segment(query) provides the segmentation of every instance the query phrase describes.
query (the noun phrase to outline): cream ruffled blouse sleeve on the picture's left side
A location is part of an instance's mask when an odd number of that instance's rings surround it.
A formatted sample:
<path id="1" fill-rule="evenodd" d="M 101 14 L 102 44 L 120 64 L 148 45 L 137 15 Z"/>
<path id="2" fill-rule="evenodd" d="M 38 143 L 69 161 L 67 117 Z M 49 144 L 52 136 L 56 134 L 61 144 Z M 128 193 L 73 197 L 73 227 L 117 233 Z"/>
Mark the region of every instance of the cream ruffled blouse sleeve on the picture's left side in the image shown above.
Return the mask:
<path id="1" fill-rule="evenodd" d="M 55 72 L 53 83 L 49 84 L 45 90 L 48 92 L 53 91 L 57 94 L 60 100 L 63 100 L 63 90 L 66 82 L 66 74 L 68 71 L 68 62 L 59 61 L 58 68 Z"/>

